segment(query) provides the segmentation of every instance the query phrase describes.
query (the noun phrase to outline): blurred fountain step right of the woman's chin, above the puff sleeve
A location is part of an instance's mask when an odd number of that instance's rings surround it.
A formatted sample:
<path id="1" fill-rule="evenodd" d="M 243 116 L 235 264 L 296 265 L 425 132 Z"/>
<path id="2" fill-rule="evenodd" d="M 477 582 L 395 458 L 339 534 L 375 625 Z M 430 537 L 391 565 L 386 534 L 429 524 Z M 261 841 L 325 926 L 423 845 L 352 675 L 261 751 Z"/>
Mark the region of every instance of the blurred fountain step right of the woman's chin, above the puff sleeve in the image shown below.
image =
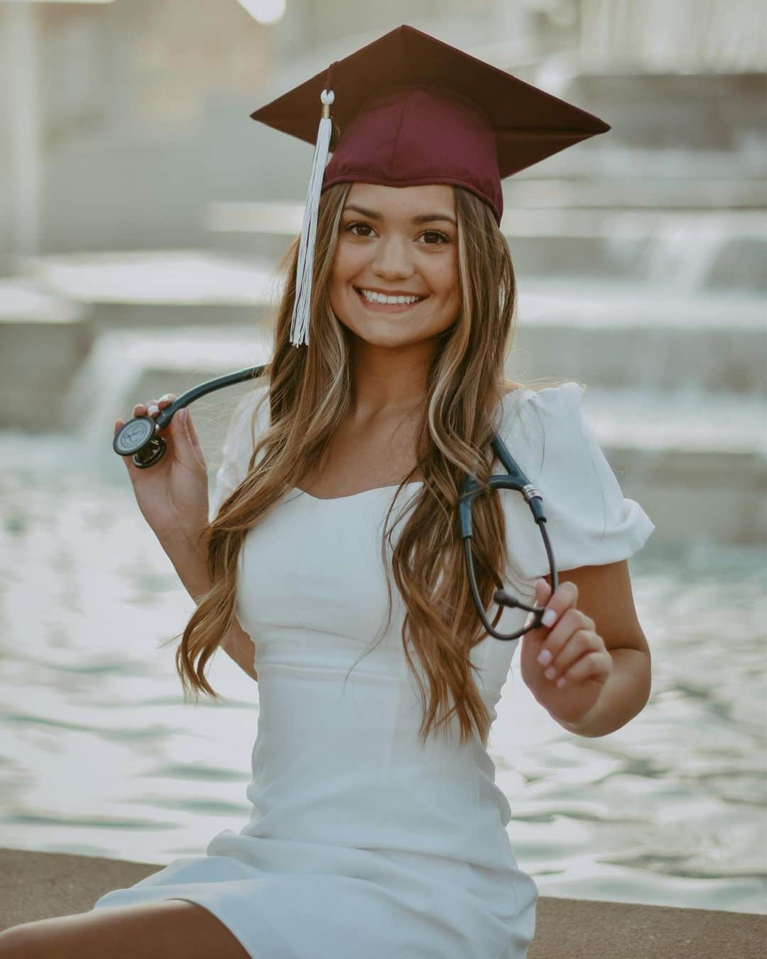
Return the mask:
<path id="1" fill-rule="evenodd" d="M 575 376 L 660 394 L 767 392 L 763 296 L 523 277 L 518 316 L 513 379 Z"/>

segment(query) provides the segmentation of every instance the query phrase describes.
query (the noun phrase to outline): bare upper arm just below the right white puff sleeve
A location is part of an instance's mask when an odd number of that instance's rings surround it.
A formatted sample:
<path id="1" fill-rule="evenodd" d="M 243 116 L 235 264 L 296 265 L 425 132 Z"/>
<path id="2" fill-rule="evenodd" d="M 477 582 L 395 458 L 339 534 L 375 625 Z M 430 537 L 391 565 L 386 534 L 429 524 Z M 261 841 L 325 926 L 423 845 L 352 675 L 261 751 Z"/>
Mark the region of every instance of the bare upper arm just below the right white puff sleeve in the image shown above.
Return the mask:
<path id="1" fill-rule="evenodd" d="M 594 621 L 594 632 L 608 649 L 639 649 L 650 655 L 634 605 L 627 560 L 603 566 L 581 566 L 558 576 L 560 583 L 569 581 L 577 586 L 576 607 Z M 551 576 L 546 574 L 544 578 L 550 586 Z"/>

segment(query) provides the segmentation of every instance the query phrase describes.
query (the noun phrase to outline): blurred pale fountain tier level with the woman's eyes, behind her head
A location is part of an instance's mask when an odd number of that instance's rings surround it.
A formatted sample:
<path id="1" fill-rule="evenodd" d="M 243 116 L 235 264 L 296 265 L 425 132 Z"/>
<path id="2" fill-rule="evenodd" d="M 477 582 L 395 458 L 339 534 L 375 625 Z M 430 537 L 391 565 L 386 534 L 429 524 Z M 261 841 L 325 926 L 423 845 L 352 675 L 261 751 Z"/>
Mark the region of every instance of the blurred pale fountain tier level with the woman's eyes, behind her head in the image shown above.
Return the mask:
<path id="1" fill-rule="evenodd" d="M 302 219 L 300 202 L 222 202 L 209 205 L 205 222 L 211 245 L 222 253 L 276 262 Z M 767 290 L 762 209 L 507 204 L 500 225 L 520 275 L 650 280 L 690 291 Z"/>

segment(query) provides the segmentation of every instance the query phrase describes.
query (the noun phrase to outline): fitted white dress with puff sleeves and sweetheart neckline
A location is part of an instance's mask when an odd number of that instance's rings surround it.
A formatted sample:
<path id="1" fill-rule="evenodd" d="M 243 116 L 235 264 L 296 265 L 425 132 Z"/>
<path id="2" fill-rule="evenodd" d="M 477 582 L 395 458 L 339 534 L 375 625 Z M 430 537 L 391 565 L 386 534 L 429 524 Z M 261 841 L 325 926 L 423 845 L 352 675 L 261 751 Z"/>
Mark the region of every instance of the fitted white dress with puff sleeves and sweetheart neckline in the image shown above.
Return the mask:
<path id="1" fill-rule="evenodd" d="M 655 528 L 624 499 L 583 419 L 582 393 L 574 382 L 519 389 L 500 410 L 501 437 L 544 497 L 560 570 L 625 559 Z M 266 387 L 232 416 L 211 516 L 244 478 L 261 398 L 256 429 L 265 428 Z M 395 513 L 419 486 L 409 484 Z M 391 625 L 377 636 L 387 600 L 381 534 L 395 492 L 322 500 L 292 490 L 248 531 L 236 610 L 259 676 L 249 821 L 94 909 L 197 902 L 259 959 L 524 959 L 538 889 L 511 849 L 511 807 L 476 737 L 459 746 L 453 727 L 450 739 L 419 743 L 393 580 Z M 499 495 L 506 583 L 531 600 L 548 572 L 543 541 L 522 495 Z M 507 608 L 498 628 L 524 620 Z M 487 637 L 472 651 L 493 718 L 518 643 Z"/>

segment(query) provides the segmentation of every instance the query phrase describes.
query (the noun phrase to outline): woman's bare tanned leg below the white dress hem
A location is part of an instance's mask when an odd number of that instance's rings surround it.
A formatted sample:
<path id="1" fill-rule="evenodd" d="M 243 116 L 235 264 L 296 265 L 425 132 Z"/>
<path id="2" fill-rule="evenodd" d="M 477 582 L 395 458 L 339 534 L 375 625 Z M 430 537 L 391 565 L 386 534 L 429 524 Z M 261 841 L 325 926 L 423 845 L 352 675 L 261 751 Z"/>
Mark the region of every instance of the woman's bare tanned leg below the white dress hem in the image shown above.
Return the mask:
<path id="1" fill-rule="evenodd" d="M 0 932 L 0 959 L 248 959 L 196 902 L 161 900 L 59 916 Z"/>

